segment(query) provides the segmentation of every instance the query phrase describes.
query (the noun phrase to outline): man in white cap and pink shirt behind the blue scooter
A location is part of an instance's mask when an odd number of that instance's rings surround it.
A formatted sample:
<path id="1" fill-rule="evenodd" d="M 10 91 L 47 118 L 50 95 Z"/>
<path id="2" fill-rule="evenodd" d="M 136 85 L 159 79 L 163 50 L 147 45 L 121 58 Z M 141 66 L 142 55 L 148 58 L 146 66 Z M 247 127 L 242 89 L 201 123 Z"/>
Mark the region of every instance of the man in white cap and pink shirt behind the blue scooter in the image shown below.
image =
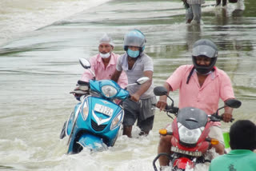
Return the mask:
<path id="1" fill-rule="evenodd" d="M 119 55 L 114 54 L 114 43 L 112 39 L 107 34 L 104 34 L 99 41 L 98 51 L 99 53 L 90 58 L 91 70 L 94 71 L 96 80 L 110 79 L 114 74 L 116 69 L 116 64 L 118 62 Z M 86 70 L 82 74 L 81 80 L 84 82 L 89 82 L 93 78 L 93 74 L 89 70 Z M 128 84 L 126 74 L 122 72 L 120 78 L 118 79 L 118 85 L 125 88 Z"/>

